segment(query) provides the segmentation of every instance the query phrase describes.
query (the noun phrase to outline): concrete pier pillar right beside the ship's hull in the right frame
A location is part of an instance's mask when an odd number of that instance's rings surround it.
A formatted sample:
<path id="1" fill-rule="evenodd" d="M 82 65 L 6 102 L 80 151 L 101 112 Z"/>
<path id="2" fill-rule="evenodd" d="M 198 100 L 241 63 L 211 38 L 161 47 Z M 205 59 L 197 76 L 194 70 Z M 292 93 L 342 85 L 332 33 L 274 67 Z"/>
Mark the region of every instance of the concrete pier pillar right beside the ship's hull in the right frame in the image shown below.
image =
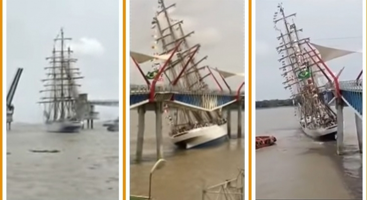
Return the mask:
<path id="1" fill-rule="evenodd" d="M 338 155 L 343 153 L 343 140 L 344 140 L 344 118 L 343 118 L 343 100 L 338 99 L 336 101 L 336 119 L 337 119 L 337 131 L 336 131 L 336 151 Z"/>

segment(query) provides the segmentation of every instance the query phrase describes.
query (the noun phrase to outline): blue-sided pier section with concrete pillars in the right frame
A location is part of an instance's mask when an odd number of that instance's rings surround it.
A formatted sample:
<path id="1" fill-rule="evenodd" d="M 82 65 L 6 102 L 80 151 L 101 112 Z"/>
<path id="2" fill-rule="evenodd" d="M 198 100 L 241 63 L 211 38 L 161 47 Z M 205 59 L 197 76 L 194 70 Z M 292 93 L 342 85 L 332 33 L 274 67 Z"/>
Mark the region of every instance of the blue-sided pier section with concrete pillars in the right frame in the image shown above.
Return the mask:
<path id="1" fill-rule="evenodd" d="M 362 140 L 362 99 L 363 99 L 363 87 L 362 79 L 360 78 L 362 70 L 355 80 L 343 80 L 338 81 L 337 77 L 333 84 L 326 85 L 325 100 L 328 104 L 334 103 L 337 115 L 337 153 L 343 154 L 343 139 L 344 139 L 344 118 L 343 108 L 349 106 L 354 111 L 355 127 L 358 139 L 359 152 L 362 153 L 363 140 Z"/>

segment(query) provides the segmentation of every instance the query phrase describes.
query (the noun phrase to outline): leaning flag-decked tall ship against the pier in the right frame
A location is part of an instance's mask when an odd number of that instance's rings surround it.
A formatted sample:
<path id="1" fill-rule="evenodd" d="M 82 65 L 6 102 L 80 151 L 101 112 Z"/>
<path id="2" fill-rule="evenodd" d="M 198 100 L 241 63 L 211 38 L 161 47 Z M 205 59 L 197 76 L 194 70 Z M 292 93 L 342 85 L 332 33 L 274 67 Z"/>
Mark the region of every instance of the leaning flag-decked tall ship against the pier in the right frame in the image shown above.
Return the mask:
<path id="1" fill-rule="evenodd" d="M 282 4 L 274 15 L 275 29 L 280 32 L 276 47 L 281 57 L 283 84 L 291 91 L 295 115 L 302 130 L 314 138 L 334 138 L 336 113 L 324 101 L 323 92 L 328 82 L 325 67 L 321 64 L 320 52 L 310 43 L 310 38 L 301 38 L 302 28 L 294 22 L 296 13 L 285 15 Z"/>

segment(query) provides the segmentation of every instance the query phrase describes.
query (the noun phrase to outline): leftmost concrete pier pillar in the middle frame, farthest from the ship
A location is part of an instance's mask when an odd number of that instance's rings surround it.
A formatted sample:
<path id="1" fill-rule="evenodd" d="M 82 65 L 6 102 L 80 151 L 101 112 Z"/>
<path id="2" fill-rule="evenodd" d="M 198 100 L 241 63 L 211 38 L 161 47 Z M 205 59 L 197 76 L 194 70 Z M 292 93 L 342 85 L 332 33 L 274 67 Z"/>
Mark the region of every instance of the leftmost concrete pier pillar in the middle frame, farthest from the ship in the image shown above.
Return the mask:
<path id="1" fill-rule="evenodd" d="M 138 135 L 136 144 L 137 161 L 140 161 L 143 156 L 144 128 L 145 128 L 145 106 L 141 105 L 138 107 Z"/>

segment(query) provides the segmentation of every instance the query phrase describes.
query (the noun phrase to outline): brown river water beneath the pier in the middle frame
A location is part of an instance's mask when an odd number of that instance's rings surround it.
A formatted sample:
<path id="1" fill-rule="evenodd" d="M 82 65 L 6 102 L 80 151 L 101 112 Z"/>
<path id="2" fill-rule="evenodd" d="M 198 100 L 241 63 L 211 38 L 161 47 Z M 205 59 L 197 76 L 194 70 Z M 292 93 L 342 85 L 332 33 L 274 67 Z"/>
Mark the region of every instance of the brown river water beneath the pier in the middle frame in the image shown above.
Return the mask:
<path id="1" fill-rule="evenodd" d="M 242 113 L 244 119 L 244 112 Z M 145 113 L 143 161 L 136 163 L 138 116 L 130 112 L 130 193 L 148 196 L 149 172 L 156 160 L 155 114 Z M 164 120 L 163 120 L 164 121 Z M 244 122 L 242 122 L 244 132 Z M 244 139 L 230 139 L 216 145 L 177 149 L 168 138 L 163 122 L 165 166 L 152 176 L 152 196 L 158 200 L 202 199 L 202 189 L 235 178 L 244 168 Z M 232 135 L 237 135 L 237 111 L 232 112 Z M 244 135 L 244 134 L 243 134 Z"/>

